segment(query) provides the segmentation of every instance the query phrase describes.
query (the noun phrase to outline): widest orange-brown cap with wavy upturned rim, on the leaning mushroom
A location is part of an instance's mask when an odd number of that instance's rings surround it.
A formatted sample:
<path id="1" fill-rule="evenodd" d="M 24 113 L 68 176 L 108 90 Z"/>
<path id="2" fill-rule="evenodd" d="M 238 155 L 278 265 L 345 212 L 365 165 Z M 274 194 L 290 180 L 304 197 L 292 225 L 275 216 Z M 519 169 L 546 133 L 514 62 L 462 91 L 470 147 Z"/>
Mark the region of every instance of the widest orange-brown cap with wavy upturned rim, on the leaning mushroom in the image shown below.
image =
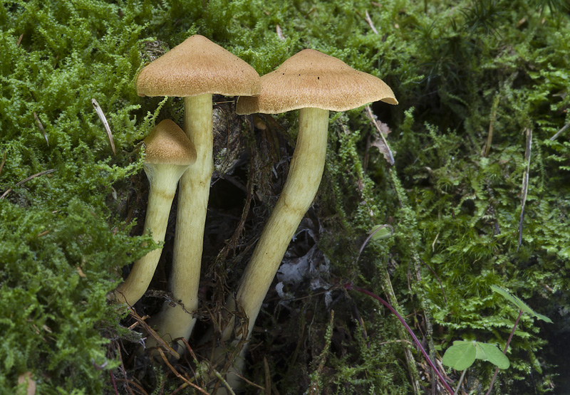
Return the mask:
<path id="1" fill-rule="evenodd" d="M 340 59 L 305 49 L 261 77 L 259 95 L 240 97 L 236 112 L 276 114 L 306 107 L 346 111 L 378 100 L 398 104 L 380 78 L 354 70 Z"/>

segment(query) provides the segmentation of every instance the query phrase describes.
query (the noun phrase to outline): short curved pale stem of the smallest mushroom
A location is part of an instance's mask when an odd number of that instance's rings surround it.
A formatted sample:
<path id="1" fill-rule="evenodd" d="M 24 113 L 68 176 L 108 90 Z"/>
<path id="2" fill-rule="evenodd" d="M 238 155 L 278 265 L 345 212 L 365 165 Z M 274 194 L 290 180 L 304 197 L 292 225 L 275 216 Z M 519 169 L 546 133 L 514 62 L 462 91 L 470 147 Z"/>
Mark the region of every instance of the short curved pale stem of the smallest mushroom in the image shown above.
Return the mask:
<path id="1" fill-rule="evenodd" d="M 152 233 L 152 240 L 155 243 L 162 243 L 165 241 L 168 215 L 176 193 L 176 185 L 188 166 L 145 163 L 144 168 L 150 189 L 143 234 Z M 128 278 L 115 290 L 118 300 L 132 306 L 142 297 L 155 273 L 160 253 L 162 248 L 157 248 L 135 262 Z"/>

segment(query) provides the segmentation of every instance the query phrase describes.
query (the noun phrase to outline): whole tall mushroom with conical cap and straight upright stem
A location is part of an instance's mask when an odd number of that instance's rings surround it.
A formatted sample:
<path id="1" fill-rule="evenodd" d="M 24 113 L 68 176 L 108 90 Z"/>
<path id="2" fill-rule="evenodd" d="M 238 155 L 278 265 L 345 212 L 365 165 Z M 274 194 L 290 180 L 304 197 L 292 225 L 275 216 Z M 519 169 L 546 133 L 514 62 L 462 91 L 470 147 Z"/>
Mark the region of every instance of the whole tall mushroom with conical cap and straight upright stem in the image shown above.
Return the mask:
<path id="1" fill-rule="evenodd" d="M 212 94 L 257 95 L 257 71 L 203 36 L 191 36 L 140 71 L 141 96 L 184 98 L 184 130 L 195 145 L 197 160 L 180 179 L 170 290 L 175 307 L 165 303 L 155 317 L 162 337 L 190 337 L 196 320 L 204 223 L 212 179 Z M 189 313 L 190 312 L 190 313 Z"/>

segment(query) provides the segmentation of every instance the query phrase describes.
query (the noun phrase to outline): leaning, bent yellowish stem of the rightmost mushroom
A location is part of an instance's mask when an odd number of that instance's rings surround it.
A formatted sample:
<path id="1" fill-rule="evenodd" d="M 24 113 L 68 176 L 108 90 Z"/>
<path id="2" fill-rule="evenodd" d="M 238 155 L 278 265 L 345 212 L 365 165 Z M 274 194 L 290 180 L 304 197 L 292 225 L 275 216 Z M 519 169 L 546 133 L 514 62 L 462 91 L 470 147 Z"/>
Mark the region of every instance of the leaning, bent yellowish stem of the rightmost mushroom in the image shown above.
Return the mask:
<path id="1" fill-rule="evenodd" d="M 327 137 L 328 110 L 301 108 L 299 135 L 287 181 L 237 291 L 237 302 L 249 317 L 247 338 L 252 334 L 261 303 L 287 246 L 318 191 L 323 176 Z M 233 326 L 228 325 L 224 339 L 229 338 L 232 329 Z"/>

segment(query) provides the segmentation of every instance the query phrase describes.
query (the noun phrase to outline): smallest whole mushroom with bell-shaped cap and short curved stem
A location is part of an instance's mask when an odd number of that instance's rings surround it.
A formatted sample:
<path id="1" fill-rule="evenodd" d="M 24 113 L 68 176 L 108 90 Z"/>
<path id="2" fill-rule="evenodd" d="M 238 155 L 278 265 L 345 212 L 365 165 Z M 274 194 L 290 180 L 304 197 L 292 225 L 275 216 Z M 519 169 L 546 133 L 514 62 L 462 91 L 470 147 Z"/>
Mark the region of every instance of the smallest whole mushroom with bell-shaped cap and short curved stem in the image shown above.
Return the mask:
<path id="1" fill-rule="evenodd" d="M 143 234 L 152 233 L 159 244 L 165 240 L 172 199 L 182 174 L 196 160 L 194 145 L 171 120 L 163 120 L 145 138 L 144 169 L 150 184 Z M 162 248 L 135 262 L 128 278 L 115 290 L 121 302 L 134 305 L 145 293 L 155 273 Z"/>

